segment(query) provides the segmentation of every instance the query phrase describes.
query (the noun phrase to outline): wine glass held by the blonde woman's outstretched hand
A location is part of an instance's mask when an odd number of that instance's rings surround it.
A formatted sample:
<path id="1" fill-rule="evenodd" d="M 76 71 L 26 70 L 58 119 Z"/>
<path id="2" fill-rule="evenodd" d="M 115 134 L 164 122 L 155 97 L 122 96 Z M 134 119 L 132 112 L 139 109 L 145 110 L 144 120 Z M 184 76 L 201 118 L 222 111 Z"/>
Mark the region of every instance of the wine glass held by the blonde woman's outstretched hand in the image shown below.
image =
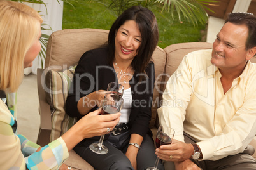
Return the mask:
<path id="1" fill-rule="evenodd" d="M 124 99 L 114 93 L 106 93 L 103 99 L 101 114 L 115 114 L 122 108 Z M 97 154 L 107 154 L 108 148 L 103 145 L 104 134 L 101 135 L 99 143 L 92 143 L 89 148 Z"/>

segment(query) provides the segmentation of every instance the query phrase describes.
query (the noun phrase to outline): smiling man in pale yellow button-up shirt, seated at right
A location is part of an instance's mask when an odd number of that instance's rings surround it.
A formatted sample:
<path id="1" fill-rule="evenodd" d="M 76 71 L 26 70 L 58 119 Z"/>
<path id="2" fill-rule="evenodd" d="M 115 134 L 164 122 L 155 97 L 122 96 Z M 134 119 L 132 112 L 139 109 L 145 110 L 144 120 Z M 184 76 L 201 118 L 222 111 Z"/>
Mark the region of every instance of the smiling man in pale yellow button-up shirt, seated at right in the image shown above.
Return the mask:
<path id="1" fill-rule="evenodd" d="M 255 54 L 255 16 L 232 13 L 213 49 L 183 58 L 158 110 L 176 131 L 157 149 L 166 169 L 256 169 L 247 148 L 256 134 Z"/>

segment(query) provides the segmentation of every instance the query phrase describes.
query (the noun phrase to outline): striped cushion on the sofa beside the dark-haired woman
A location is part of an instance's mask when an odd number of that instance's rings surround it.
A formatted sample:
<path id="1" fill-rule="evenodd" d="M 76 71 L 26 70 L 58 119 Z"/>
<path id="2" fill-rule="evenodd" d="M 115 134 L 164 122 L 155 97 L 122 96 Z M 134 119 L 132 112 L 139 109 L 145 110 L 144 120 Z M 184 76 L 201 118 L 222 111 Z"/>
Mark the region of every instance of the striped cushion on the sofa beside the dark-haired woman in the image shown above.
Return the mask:
<path id="1" fill-rule="evenodd" d="M 75 66 L 76 67 L 76 66 Z M 46 93 L 47 101 L 51 108 L 52 132 L 50 141 L 62 136 L 76 122 L 76 118 L 69 117 L 64 108 L 71 85 L 75 67 L 64 71 L 49 70 L 46 76 L 46 86 L 50 93 Z"/>

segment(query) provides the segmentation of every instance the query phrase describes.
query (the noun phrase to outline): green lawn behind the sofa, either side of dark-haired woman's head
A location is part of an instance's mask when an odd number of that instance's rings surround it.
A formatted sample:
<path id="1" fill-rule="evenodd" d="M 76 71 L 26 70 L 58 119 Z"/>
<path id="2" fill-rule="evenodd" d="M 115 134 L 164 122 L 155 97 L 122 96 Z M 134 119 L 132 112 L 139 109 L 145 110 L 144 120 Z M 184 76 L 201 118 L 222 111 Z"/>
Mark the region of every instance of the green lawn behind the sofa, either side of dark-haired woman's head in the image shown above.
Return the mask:
<path id="1" fill-rule="evenodd" d="M 206 25 L 193 25 L 177 16 L 172 18 L 167 10 L 162 11 L 162 6 L 155 3 L 150 7 L 157 18 L 159 25 L 159 46 L 165 48 L 170 44 L 180 42 L 198 42 L 203 39 Z M 116 15 L 112 15 L 104 4 L 95 1 L 79 1 L 70 6 L 64 3 L 62 29 L 106 29 L 109 30 Z M 181 17 L 182 18 L 182 17 Z"/>

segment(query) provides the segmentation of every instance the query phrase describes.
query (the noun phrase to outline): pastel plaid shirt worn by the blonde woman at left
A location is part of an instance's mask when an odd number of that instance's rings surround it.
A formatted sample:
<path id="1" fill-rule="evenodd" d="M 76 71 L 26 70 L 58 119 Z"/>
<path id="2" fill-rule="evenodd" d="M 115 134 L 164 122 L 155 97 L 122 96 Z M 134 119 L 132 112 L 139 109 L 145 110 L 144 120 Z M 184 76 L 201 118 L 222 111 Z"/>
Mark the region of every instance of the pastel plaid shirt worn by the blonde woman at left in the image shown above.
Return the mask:
<path id="1" fill-rule="evenodd" d="M 12 106 L 9 110 L 6 104 L 0 100 L 1 169 L 15 169 L 17 167 L 19 169 L 26 167 L 27 169 L 58 169 L 69 155 L 66 143 L 60 137 L 36 152 L 39 145 L 27 140 L 25 136 L 13 133 L 15 105 Z"/>

